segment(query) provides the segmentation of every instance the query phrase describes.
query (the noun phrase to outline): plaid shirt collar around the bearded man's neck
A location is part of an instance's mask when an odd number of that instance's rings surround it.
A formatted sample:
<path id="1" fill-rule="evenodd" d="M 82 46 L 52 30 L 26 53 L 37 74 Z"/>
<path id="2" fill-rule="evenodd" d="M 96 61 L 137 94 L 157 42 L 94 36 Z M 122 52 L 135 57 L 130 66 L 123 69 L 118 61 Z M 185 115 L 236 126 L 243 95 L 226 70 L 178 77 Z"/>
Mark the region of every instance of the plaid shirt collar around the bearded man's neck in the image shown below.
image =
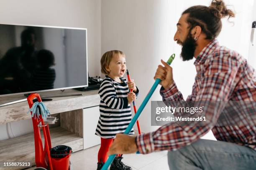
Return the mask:
<path id="1" fill-rule="evenodd" d="M 216 39 L 209 42 L 209 44 L 207 44 L 203 48 L 203 50 L 200 52 L 200 54 L 197 56 L 197 58 L 194 62 L 194 65 L 199 65 L 199 64 L 205 62 L 205 60 L 208 57 L 208 54 L 210 54 L 218 45 L 219 45 L 219 42 Z"/>

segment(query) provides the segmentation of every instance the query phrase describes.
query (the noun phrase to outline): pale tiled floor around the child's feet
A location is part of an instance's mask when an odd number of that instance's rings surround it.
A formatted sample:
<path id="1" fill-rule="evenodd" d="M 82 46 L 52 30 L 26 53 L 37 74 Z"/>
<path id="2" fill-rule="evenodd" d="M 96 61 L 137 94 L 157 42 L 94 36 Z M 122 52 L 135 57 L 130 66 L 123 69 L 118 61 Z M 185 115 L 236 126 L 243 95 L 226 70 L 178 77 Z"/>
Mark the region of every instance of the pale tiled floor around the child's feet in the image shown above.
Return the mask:
<path id="1" fill-rule="evenodd" d="M 73 170 L 96 170 L 97 153 L 100 145 L 73 153 L 71 163 Z M 151 153 L 147 155 L 127 154 L 123 155 L 123 163 L 133 170 L 169 170 L 167 163 L 167 151 Z"/>

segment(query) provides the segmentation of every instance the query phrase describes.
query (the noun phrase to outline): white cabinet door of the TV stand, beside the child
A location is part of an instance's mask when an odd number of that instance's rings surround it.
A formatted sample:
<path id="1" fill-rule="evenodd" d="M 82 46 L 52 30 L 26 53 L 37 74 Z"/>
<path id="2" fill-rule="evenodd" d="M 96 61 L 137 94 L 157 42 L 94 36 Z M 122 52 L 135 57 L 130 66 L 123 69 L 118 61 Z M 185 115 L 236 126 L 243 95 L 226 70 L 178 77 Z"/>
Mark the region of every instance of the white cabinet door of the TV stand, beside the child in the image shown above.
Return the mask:
<path id="1" fill-rule="evenodd" d="M 100 137 L 95 135 L 99 117 L 99 106 L 89 107 L 83 110 L 84 149 L 100 144 Z"/>

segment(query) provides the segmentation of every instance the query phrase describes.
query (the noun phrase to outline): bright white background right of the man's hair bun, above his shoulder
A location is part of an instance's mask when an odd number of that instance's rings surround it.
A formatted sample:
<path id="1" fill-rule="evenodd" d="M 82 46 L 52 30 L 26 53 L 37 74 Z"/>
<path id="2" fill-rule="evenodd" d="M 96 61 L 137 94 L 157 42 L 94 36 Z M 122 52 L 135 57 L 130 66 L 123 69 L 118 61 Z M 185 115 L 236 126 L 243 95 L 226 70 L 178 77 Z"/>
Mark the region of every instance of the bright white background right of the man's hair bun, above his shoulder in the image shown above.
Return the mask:
<path id="1" fill-rule="evenodd" d="M 230 18 L 234 25 L 227 18 L 222 19 L 223 27 L 218 37 L 221 45 L 236 50 L 246 59 L 249 56 L 253 1 L 247 0 L 244 3 L 241 0 L 225 0 L 226 4 L 230 4 L 229 8 L 235 11 L 236 17 Z"/>

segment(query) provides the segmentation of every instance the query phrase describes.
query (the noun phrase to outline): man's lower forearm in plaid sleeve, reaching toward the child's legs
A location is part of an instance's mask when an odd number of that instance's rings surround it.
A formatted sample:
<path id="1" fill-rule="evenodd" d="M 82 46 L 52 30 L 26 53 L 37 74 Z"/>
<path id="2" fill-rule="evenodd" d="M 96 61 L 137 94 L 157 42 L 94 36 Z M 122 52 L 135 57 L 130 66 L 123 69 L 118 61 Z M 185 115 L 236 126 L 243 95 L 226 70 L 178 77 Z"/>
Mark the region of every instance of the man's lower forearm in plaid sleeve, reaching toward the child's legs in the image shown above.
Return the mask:
<path id="1" fill-rule="evenodd" d="M 161 150 L 174 151 L 183 146 L 190 145 L 209 130 L 209 126 L 181 127 L 169 123 L 155 132 L 136 136 L 136 144 L 138 151 L 142 154 Z"/>

